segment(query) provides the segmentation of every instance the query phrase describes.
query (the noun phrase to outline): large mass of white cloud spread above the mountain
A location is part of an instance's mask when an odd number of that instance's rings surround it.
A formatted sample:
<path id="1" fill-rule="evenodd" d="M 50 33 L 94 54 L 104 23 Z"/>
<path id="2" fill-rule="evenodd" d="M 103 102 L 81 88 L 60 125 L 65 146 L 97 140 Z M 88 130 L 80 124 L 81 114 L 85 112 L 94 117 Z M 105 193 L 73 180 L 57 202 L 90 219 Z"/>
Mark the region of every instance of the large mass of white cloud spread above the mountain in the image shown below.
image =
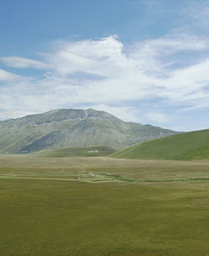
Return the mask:
<path id="1" fill-rule="evenodd" d="M 9 81 L 12 74 L 0 70 L 0 79 L 5 81 L 0 87 L 0 109 L 12 117 L 12 113 L 88 106 L 124 120 L 169 122 L 159 107 L 198 107 L 203 101 L 209 106 L 207 42 L 206 38 L 176 34 L 127 49 L 110 36 L 59 42 L 54 52 L 42 54 L 43 61 L 3 58 L 16 68 L 47 70 L 42 79 L 24 77 L 16 83 Z"/>

